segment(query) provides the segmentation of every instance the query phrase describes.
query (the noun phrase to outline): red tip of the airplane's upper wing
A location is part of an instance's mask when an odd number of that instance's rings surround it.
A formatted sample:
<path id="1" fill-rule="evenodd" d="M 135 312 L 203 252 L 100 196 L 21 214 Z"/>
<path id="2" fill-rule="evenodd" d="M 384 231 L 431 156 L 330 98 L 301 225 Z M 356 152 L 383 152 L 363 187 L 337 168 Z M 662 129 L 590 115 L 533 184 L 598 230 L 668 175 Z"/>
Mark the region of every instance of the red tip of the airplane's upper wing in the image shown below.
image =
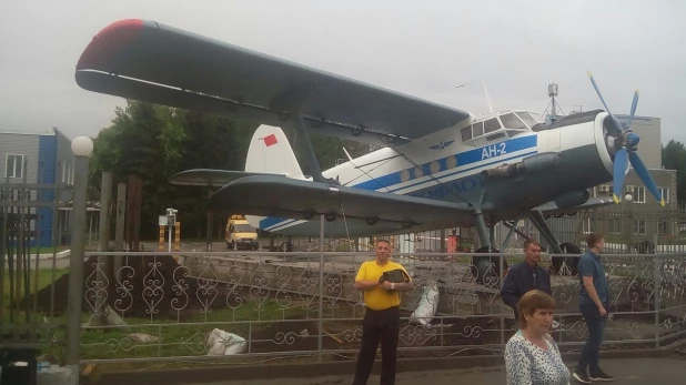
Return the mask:
<path id="1" fill-rule="evenodd" d="M 104 64 L 113 53 L 133 40 L 142 28 L 141 19 L 119 20 L 103 28 L 81 53 L 77 71 Z"/>

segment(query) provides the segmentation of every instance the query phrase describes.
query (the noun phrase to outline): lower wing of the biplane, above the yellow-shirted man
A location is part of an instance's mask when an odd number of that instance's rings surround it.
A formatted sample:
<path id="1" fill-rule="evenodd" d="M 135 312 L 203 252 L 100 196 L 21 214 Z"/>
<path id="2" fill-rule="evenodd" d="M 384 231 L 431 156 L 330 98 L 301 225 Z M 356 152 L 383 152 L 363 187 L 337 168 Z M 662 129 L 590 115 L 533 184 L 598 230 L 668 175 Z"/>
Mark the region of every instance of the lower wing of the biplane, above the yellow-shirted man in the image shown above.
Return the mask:
<path id="1" fill-rule="evenodd" d="M 273 175 L 241 178 L 210 197 L 211 209 L 245 215 L 309 219 L 345 217 L 410 226 L 471 213 L 466 204 L 345 188 Z"/>

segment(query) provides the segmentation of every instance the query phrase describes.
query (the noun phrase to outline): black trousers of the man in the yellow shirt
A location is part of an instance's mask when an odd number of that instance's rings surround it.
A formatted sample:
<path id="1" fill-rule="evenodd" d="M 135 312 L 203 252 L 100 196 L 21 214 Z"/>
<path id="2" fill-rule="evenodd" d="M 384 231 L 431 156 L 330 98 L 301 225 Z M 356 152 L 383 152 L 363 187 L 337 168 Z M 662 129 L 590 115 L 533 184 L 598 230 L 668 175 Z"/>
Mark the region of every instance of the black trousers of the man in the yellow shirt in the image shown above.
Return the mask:
<path id="1" fill-rule="evenodd" d="M 400 307 L 383 311 L 365 308 L 362 321 L 362 346 L 357 355 L 357 369 L 353 385 L 366 385 L 372 373 L 376 347 L 381 341 L 381 385 L 395 384 L 397 337 L 400 332 Z"/>

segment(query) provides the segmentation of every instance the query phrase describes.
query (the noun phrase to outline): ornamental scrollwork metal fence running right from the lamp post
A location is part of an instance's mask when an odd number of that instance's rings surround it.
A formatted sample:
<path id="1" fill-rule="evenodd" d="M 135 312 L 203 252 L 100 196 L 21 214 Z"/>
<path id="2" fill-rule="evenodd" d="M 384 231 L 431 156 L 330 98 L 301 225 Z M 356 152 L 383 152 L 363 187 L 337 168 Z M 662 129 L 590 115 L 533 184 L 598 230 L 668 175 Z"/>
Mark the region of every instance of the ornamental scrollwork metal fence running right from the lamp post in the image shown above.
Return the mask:
<path id="1" fill-rule="evenodd" d="M 356 357 L 363 303 L 354 278 L 371 253 L 87 255 L 83 311 L 101 321 L 82 327 L 81 363 Z M 516 325 L 502 304 L 498 272 L 523 255 L 500 255 L 394 256 L 416 283 L 402 294 L 399 357 L 502 354 Z M 113 259 L 123 267 L 112 271 Z M 577 308 L 578 255 L 544 254 L 542 263 L 555 259 L 562 266 L 552 275 L 559 324 L 553 336 L 563 351 L 578 349 L 587 335 Z M 604 255 L 603 263 L 612 305 L 603 348 L 684 338 L 686 254 Z"/>

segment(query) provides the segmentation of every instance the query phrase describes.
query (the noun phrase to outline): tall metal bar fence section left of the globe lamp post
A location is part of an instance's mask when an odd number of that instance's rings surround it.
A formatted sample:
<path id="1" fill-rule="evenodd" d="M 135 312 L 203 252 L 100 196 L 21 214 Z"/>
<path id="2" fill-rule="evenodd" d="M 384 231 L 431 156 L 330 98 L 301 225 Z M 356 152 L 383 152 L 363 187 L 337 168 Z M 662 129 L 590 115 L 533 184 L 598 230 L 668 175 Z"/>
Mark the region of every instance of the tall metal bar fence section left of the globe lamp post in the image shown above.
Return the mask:
<path id="1" fill-rule="evenodd" d="M 21 180 L 6 178 L 0 183 L 0 349 L 63 356 L 65 321 L 56 316 L 53 304 L 67 293 L 44 290 L 41 298 L 34 295 L 60 273 L 57 261 L 63 253 L 57 245 L 72 188 L 50 183 L 57 170 L 39 165 L 33 183 L 28 172 Z"/>

